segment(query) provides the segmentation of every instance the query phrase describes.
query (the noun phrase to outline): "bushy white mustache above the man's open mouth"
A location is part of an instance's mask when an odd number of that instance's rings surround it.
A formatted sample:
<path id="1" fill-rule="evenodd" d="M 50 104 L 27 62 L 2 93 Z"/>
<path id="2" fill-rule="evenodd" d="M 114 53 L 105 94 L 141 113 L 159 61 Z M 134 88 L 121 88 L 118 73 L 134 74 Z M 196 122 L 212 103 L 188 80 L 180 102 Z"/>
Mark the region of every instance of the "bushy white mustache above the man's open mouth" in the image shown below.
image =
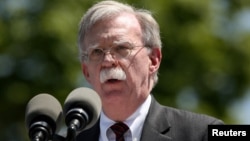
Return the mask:
<path id="1" fill-rule="evenodd" d="M 100 81 L 104 83 L 109 79 L 126 80 L 126 74 L 121 68 L 106 68 L 100 72 Z"/>

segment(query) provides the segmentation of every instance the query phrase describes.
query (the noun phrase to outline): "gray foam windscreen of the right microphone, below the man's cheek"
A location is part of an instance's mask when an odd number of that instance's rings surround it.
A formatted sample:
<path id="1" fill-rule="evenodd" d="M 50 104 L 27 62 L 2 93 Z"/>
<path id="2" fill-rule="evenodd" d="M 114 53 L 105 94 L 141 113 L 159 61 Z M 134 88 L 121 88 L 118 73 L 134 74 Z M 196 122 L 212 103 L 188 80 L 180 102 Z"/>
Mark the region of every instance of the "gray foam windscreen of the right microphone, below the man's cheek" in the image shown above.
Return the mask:
<path id="1" fill-rule="evenodd" d="M 82 108 L 90 116 L 90 121 L 84 129 L 94 126 L 101 112 L 101 99 L 92 89 L 80 87 L 74 89 L 66 98 L 63 107 L 64 115 L 72 108 Z"/>

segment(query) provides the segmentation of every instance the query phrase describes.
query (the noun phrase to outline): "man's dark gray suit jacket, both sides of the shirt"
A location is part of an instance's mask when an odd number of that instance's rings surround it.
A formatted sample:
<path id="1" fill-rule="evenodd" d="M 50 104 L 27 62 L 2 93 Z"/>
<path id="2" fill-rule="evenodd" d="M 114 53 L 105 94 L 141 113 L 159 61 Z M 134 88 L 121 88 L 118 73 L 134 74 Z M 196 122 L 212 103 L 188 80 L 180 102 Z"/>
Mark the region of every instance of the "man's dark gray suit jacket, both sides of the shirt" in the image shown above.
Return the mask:
<path id="1" fill-rule="evenodd" d="M 153 97 L 141 141 L 207 141 L 209 124 L 224 124 L 216 118 L 160 105 Z M 99 121 L 78 134 L 76 141 L 98 141 Z"/>

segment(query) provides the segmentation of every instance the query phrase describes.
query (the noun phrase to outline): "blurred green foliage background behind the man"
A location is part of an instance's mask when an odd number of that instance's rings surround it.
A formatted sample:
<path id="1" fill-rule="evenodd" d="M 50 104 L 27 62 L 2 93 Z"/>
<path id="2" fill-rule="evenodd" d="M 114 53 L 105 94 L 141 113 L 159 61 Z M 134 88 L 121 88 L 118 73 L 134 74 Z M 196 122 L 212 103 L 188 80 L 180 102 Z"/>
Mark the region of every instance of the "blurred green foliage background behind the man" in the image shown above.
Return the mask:
<path id="1" fill-rule="evenodd" d="M 77 30 L 94 2 L 0 1 L 0 140 L 28 140 L 25 107 L 36 94 L 50 93 L 63 103 L 72 89 L 85 86 Z M 152 10 L 161 27 L 163 60 L 155 97 L 165 105 L 239 122 L 227 108 L 249 89 L 250 27 L 242 15 L 250 17 L 250 1 L 126 2 Z"/>

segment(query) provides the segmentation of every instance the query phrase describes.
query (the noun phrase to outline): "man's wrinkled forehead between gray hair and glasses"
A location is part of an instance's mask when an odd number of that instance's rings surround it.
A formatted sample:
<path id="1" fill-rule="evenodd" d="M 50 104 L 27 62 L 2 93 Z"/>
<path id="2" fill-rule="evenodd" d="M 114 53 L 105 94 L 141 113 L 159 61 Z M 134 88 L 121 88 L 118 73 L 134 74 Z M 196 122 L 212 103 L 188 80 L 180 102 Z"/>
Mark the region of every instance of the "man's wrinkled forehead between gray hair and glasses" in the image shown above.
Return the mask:
<path id="1" fill-rule="evenodd" d="M 130 19 L 128 20 L 128 18 Z M 90 38 L 87 35 L 84 42 L 90 45 L 94 43 L 94 45 L 91 45 L 93 48 L 107 47 L 124 42 L 132 43 L 131 41 L 136 42 L 134 39 L 138 37 L 141 41 L 140 24 L 134 24 L 135 22 L 138 23 L 135 16 L 128 13 L 116 16 L 115 20 L 105 19 L 104 21 L 99 21 L 90 29 L 92 31 L 90 32 Z M 126 24 L 124 25 L 124 23 Z M 128 29 L 133 30 L 132 37 L 129 36 L 130 34 L 128 35 Z M 92 36 L 96 38 L 93 39 Z"/>

